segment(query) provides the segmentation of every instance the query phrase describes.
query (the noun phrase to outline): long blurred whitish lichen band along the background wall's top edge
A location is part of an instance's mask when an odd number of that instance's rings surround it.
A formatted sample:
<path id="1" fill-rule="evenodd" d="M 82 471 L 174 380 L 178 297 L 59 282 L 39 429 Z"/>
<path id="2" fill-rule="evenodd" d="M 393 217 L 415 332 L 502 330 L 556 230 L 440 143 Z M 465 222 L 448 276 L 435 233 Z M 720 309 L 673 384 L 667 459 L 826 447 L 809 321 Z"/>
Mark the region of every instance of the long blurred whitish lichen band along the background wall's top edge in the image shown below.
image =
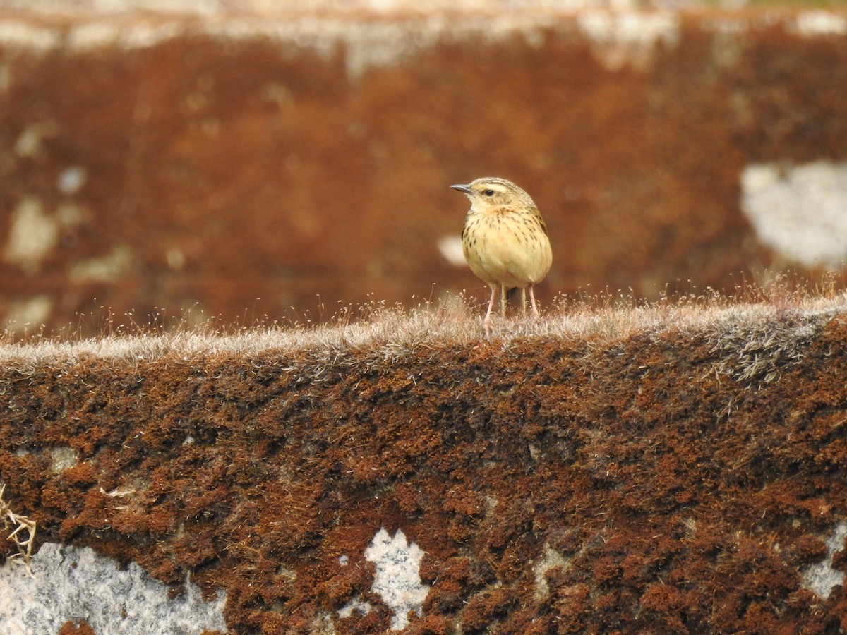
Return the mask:
<path id="1" fill-rule="evenodd" d="M 630 4 L 622 0 L 612 10 L 591 9 L 578 14 L 579 32 L 590 38 L 598 57 L 615 69 L 627 61 L 645 63 L 658 41 L 678 40 L 676 14 L 637 11 L 629 8 Z M 573 8 L 578 7 L 575 4 Z M 557 19 L 549 11 L 480 14 L 466 6 L 465 14 L 459 16 L 416 10 L 414 17 L 377 20 L 358 19 L 339 9 L 340 5 L 336 5 L 333 13 L 301 14 L 285 19 L 251 14 L 229 14 L 221 19 L 219 15 L 208 14 L 202 22 L 161 16 L 157 20 L 134 19 L 131 24 L 88 20 L 71 25 L 64 33 L 53 28 L 16 25 L 13 29 L 0 28 L 0 44 L 89 52 L 108 47 L 156 47 L 165 41 L 197 34 L 239 41 L 268 39 L 279 41 L 284 55 L 308 50 L 331 59 L 340 53 L 348 78 L 355 81 L 368 69 L 403 63 L 432 50 L 440 42 L 469 39 L 495 42 L 522 36 L 530 47 L 538 48 L 544 45 L 547 30 L 574 30 L 569 20 Z"/>

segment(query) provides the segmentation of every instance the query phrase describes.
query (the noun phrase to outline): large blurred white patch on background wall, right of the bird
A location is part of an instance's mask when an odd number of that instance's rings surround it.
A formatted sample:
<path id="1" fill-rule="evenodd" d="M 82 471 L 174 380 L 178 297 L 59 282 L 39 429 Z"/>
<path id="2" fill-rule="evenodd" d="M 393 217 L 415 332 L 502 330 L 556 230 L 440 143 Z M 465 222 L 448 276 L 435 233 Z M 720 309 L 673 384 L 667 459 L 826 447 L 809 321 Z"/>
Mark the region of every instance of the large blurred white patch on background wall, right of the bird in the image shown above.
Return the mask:
<path id="1" fill-rule="evenodd" d="M 741 174 L 741 207 L 759 240 L 807 267 L 847 259 L 847 163 L 757 163 Z"/>

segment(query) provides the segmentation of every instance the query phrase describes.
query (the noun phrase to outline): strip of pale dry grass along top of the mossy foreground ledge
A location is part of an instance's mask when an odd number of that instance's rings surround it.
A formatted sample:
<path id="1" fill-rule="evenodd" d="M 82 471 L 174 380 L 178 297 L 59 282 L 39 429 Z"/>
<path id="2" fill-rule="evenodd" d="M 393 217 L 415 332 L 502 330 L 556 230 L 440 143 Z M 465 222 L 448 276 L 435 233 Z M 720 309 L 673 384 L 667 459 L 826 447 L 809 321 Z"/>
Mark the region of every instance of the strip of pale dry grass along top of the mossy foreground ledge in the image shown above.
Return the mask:
<path id="1" fill-rule="evenodd" d="M 281 327 L 220 329 L 208 323 L 163 330 L 135 323 L 131 329 L 90 339 L 30 337 L 0 340 L 0 364 L 26 373 L 97 357 L 114 362 L 169 359 L 191 362 L 218 355 L 279 355 L 310 362 L 336 362 L 351 351 L 368 351 L 374 362 L 407 355 L 421 347 L 494 345 L 507 350 L 518 340 L 595 340 L 608 342 L 635 334 L 701 334 L 717 352 L 738 356 L 723 372 L 746 382 L 772 380 L 780 362 L 799 355 L 816 324 L 847 311 L 844 292 L 745 290 L 745 301 L 707 291 L 673 300 L 645 303 L 631 296 L 601 294 L 560 299 L 541 319 L 496 318 L 493 338 L 484 339 L 480 306 L 463 295 L 412 308 L 374 303 L 342 310 L 329 323 Z"/>

